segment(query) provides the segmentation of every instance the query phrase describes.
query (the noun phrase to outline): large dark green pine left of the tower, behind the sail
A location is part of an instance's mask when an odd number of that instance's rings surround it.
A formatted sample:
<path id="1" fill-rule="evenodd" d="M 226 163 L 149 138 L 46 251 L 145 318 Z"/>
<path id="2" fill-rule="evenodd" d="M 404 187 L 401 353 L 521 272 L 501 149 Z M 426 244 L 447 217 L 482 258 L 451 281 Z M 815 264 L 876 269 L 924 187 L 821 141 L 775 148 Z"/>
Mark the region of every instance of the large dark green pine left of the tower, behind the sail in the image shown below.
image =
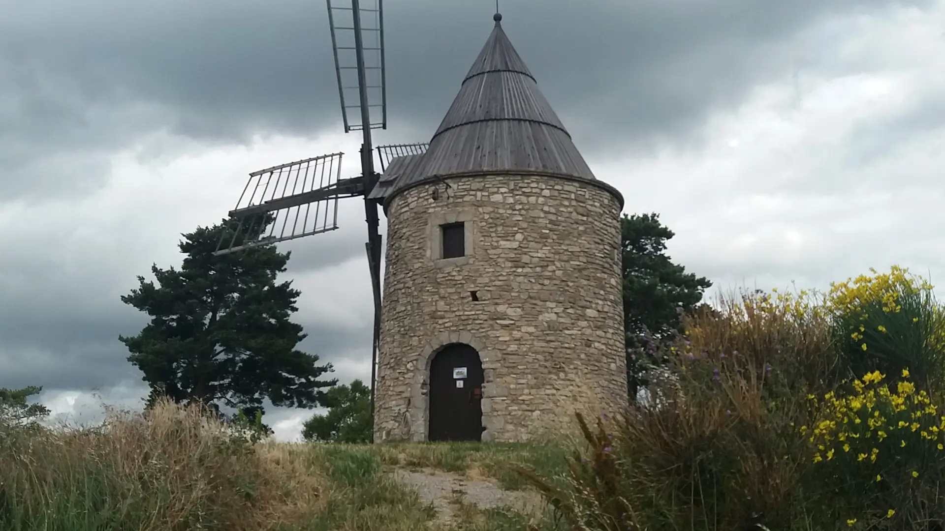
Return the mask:
<path id="1" fill-rule="evenodd" d="M 249 419 L 262 414 L 264 399 L 315 407 L 336 381 L 322 379 L 330 364 L 296 349 L 306 334 L 289 317 L 301 292 L 291 282 L 276 282 L 290 253 L 267 246 L 215 256 L 221 237 L 230 241 L 234 229 L 224 220 L 182 234 L 180 269 L 152 266 L 157 283 L 139 276 L 139 287 L 121 298 L 151 317 L 141 333 L 119 336 L 131 352 L 128 360 L 144 372 L 149 403 L 165 396 L 216 411 L 226 405 Z M 236 239 L 240 244 L 244 236 Z"/>

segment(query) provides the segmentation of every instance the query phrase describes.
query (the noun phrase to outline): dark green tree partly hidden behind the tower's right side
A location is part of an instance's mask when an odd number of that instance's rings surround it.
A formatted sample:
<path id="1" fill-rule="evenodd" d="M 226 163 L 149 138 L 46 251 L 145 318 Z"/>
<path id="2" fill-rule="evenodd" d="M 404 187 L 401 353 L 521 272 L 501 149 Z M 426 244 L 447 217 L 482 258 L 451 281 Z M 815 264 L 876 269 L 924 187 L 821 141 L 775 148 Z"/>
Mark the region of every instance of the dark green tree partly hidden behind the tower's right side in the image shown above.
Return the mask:
<path id="1" fill-rule="evenodd" d="M 682 315 L 693 312 L 712 286 L 705 277 L 687 273 L 666 255 L 674 235 L 659 214 L 633 214 L 621 219 L 623 250 L 624 331 L 627 334 L 627 391 L 636 397 L 645 384 L 645 367 L 656 344 L 682 332 Z"/>

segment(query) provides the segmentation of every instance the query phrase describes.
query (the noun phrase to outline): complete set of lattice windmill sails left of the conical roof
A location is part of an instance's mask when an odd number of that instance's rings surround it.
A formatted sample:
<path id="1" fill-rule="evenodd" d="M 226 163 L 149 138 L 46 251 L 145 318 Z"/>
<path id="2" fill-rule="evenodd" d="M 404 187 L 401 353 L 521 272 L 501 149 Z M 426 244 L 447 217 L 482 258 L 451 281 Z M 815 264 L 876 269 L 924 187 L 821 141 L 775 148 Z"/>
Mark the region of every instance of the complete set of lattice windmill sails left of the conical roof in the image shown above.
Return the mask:
<path id="1" fill-rule="evenodd" d="M 361 175 L 342 179 L 343 153 L 320 155 L 250 173 L 243 194 L 229 213 L 235 231 L 221 237 L 215 254 L 335 231 L 338 228 L 338 199 L 364 198 L 368 222 L 365 248 L 374 299 L 370 374 L 370 411 L 373 415 L 381 323 L 382 245 L 378 215 L 381 200 L 371 197 L 371 192 L 375 187 L 383 188 L 384 180 L 388 179 L 382 180 L 374 171 L 375 148 L 371 144 L 371 130 L 387 128 L 384 8 L 383 0 L 326 2 L 345 132 L 359 130 L 362 134 Z M 362 4 L 369 4 L 369 7 Z M 403 161 L 411 159 L 409 155 L 419 155 L 426 147 L 426 144 L 376 147 L 381 171 L 392 175 L 396 171 L 392 166 L 403 165 Z"/>

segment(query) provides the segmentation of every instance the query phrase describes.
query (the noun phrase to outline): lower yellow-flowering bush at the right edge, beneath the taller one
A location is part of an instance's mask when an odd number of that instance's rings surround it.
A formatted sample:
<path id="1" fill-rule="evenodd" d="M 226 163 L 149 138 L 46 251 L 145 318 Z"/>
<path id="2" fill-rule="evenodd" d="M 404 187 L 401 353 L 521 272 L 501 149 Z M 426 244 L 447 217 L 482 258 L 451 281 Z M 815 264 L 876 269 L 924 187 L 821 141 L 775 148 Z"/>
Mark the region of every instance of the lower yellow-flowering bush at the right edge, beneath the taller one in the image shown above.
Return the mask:
<path id="1" fill-rule="evenodd" d="M 908 369 L 897 376 L 894 383 L 875 370 L 840 389 L 842 395 L 807 397 L 813 420 L 799 434 L 810 445 L 812 477 L 833 494 L 849 495 L 860 510 L 873 507 L 851 515 L 851 526 L 916 514 L 922 510 L 915 506 L 917 491 L 936 491 L 945 479 L 945 411 L 917 389 Z M 835 498 L 830 503 L 843 510 Z"/>

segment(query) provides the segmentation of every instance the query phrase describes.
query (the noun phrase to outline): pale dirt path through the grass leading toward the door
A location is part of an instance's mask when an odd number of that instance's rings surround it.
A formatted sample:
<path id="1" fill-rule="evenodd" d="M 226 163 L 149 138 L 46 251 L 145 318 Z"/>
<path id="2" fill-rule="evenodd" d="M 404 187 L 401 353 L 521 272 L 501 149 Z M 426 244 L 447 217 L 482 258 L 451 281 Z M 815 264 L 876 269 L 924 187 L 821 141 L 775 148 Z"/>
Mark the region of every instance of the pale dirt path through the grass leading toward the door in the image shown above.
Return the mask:
<path id="1" fill-rule="evenodd" d="M 524 515 L 541 513 L 543 502 L 534 491 L 504 490 L 488 480 L 469 479 L 455 473 L 425 469 L 421 471 L 391 471 L 398 481 L 417 490 L 423 502 L 437 509 L 438 523 L 453 522 L 454 500 L 457 496 L 481 509 L 509 507 Z"/>

